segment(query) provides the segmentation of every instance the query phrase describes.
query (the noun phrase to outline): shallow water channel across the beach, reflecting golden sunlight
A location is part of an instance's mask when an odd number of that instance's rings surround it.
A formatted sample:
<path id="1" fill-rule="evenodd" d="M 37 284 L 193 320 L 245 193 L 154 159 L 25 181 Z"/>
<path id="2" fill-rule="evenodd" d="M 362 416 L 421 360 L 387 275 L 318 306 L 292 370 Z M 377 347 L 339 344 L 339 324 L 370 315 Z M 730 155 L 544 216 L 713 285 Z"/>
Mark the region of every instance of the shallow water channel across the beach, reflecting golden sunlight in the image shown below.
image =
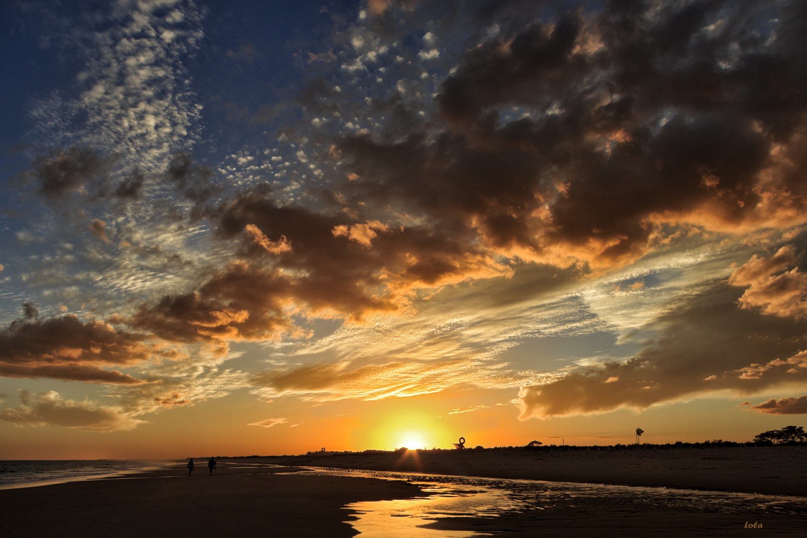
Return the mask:
<path id="1" fill-rule="evenodd" d="M 424 498 L 351 503 L 349 521 L 363 536 L 385 538 L 461 538 L 495 536 L 495 532 L 450 530 L 469 521 L 520 517 L 540 511 L 568 515 L 596 514 L 652 517 L 654 514 L 700 513 L 736 515 L 737 521 L 767 516 L 807 523 L 807 498 L 720 491 L 671 490 L 657 487 L 605 486 L 574 482 L 542 482 L 500 478 L 457 477 L 425 473 L 391 473 L 350 469 L 316 469 L 302 473 L 402 480 L 420 486 Z M 537 514 L 537 517 L 534 516 Z M 452 524 L 452 520 L 456 523 Z M 742 523 L 741 523 L 742 527 Z"/>

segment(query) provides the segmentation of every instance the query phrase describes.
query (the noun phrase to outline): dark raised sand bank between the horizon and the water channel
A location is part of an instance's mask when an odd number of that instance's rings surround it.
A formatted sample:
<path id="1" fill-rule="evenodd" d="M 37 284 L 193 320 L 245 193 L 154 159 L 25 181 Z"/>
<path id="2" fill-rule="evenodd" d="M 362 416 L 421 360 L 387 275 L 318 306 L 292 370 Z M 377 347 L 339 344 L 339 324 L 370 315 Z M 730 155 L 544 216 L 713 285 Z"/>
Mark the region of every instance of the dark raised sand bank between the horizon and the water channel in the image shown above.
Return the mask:
<path id="1" fill-rule="evenodd" d="M 807 446 L 474 453 L 419 450 L 237 458 L 275 465 L 807 495 Z"/>

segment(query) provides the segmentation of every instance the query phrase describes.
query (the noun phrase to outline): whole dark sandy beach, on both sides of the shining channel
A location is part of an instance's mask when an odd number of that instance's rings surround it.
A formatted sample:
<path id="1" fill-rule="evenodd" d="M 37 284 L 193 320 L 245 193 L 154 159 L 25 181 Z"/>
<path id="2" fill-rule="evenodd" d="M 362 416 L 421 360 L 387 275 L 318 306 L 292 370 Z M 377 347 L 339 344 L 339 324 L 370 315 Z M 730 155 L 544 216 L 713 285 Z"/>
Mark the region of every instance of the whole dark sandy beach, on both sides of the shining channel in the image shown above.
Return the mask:
<path id="1" fill-rule="evenodd" d="M 190 478 L 184 465 L 178 464 L 123 478 L 0 490 L 5 509 L 2 536 L 45 536 L 53 532 L 91 537 L 261 533 L 354 536 L 358 531 L 349 520 L 355 520 L 357 512 L 345 509 L 352 503 L 359 503 L 354 508 L 370 511 L 399 506 L 396 513 L 383 515 L 386 531 L 367 532 L 368 527 L 364 527 L 362 536 L 382 538 L 571 537 L 592 533 L 736 536 L 740 532 L 803 536 L 807 529 L 805 511 L 801 510 L 807 507 L 803 497 L 805 455 L 805 448 L 776 447 L 645 453 L 427 451 L 223 458 L 213 476 L 199 460 Z M 366 474 L 435 473 L 454 478 L 404 476 L 405 482 L 322 475 L 307 470 L 312 468 L 372 469 Z M 425 483 L 429 480 L 443 488 L 441 494 L 434 494 L 436 489 Z M 420 486 L 409 482 L 419 482 Z M 504 498 L 501 492 L 505 490 L 512 506 L 482 515 L 475 511 L 474 503 L 489 502 L 497 494 Z M 399 505 L 374 503 L 393 499 L 413 500 Z M 415 507 L 416 503 L 420 504 Z M 396 525 L 403 526 L 403 519 L 415 512 L 426 515 L 416 522 L 415 530 L 422 534 L 390 531 Z M 762 524 L 763 528 L 749 530 L 746 525 L 750 523 Z"/>

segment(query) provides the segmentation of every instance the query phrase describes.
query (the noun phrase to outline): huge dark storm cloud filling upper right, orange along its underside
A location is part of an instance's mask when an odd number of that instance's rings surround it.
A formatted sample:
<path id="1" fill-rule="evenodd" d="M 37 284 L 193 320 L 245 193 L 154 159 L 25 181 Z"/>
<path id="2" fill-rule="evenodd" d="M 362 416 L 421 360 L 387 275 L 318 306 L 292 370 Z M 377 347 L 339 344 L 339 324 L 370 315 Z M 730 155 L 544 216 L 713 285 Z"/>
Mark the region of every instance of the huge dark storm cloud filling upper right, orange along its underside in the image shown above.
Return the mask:
<path id="1" fill-rule="evenodd" d="M 436 127 L 338 144 L 361 178 L 344 192 L 461 223 L 507 255 L 603 269 L 667 224 L 803 223 L 804 11 L 610 2 L 511 22 L 442 83 Z"/>

